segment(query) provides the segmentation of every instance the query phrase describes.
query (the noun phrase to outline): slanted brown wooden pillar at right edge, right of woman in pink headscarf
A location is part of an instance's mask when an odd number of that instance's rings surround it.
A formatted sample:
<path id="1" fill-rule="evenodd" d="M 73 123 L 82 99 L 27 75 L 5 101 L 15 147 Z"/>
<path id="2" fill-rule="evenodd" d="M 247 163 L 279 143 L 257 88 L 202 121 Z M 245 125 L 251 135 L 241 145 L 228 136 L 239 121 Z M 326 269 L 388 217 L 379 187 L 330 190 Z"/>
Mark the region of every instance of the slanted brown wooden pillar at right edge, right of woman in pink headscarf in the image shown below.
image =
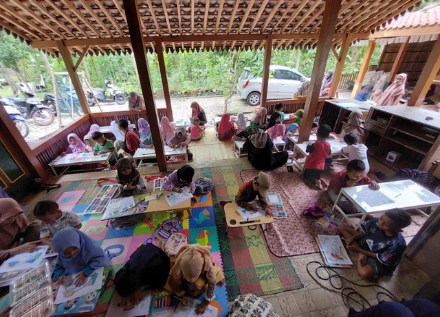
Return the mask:
<path id="1" fill-rule="evenodd" d="M 437 73 L 440 69 L 440 37 L 435 41 L 434 47 L 429 54 L 428 60 L 426 61 L 425 67 L 415 84 L 414 90 L 412 91 L 411 97 L 408 101 L 408 106 L 419 107 L 423 100 L 425 99 L 426 93 L 432 84 Z"/>

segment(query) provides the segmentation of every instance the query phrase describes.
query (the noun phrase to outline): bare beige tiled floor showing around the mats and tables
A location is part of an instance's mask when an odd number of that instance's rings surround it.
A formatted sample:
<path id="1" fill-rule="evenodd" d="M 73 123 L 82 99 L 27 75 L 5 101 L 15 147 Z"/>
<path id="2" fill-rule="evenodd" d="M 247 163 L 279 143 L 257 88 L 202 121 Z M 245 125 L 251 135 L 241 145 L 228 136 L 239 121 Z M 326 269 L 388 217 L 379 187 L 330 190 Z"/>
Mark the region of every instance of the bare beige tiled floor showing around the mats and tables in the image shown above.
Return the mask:
<path id="1" fill-rule="evenodd" d="M 230 150 L 232 143 L 221 143 L 216 139 L 213 139 L 214 134 L 208 132 L 206 139 L 199 141 L 199 144 L 192 144 L 190 150 L 195 154 L 194 160 L 190 163 L 195 168 L 202 167 L 219 167 L 225 165 L 232 165 L 241 163 L 246 168 L 252 168 L 246 158 L 235 158 Z M 210 157 L 210 158 L 208 158 Z M 371 159 L 371 168 L 380 169 L 386 176 L 393 176 L 393 172 L 386 169 L 382 164 Z M 179 167 L 179 165 L 168 165 L 170 170 Z M 142 167 L 140 168 L 141 174 L 153 174 L 159 172 L 157 167 Z M 64 176 L 57 176 L 52 179 L 53 182 L 62 183 L 71 180 L 83 180 L 94 178 L 114 178 L 115 171 L 96 172 L 96 173 L 83 173 L 83 174 L 68 174 Z M 26 211 L 31 211 L 41 198 L 41 195 L 30 196 L 23 202 L 23 207 Z M 283 316 L 303 316 L 303 317 L 339 317 L 347 316 L 349 309 L 344 305 L 340 294 L 333 293 L 329 290 L 325 290 L 318 285 L 307 273 L 307 263 L 311 261 L 322 261 L 320 254 L 315 253 L 312 255 L 300 255 L 296 257 L 290 257 L 290 261 L 296 268 L 300 280 L 303 282 L 303 288 L 299 290 L 283 292 L 279 294 L 263 296 L 266 301 L 272 303 L 275 312 Z M 355 258 L 352 255 L 352 261 L 355 263 Z M 312 268 L 316 266 L 312 264 Z M 314 275 L 314 269 L 311 270 Z M 342 277 L 358 283 L 360 285 L 370 285 L 366 281 L 362 281 L 355 266 L 352 268 L 340 268 L 336 269 L 336 272 L 342 275 Z M 401 298 L 410 299 L 414 294 L 426 283 L 429 279 L 414 266 L 407 259 L 402 259 L 401 263 L 397 267 L 393 277 L 384 277 L 380 279 L 378 285 L 385 287 L 387 290 L 393 293 L 395 298 L 400 300 Z M 321 281 L 322 285 L 330 287 L 328 281 Z M 337 285 L 340 283 L 336 282 Z M 344 282 L 344 287 L 352 287 L 357 290 L 366 300 L 371 304 L 377 304 L 376 294 L 382 291 L 379 287 L 361 287 L 353 285 L 352 283 Z M 389 300 L 389 298 L 381 297 L 381 299 Z M 230 303 L 232 304 L 232 302 Z M 366 307 L 369 305 L 366 303 Z M 354 304 L 353 304 L 354 306 Z"/>

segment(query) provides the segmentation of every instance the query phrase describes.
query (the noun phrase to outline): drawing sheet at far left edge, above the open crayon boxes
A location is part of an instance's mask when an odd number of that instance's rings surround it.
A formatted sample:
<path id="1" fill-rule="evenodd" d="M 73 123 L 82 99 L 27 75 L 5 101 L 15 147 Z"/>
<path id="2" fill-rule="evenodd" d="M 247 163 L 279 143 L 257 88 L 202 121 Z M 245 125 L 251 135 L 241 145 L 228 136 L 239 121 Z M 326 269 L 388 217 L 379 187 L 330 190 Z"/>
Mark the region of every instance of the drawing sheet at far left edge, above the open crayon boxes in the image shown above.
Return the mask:
<path id="1" fill-rule="evenodd" d="M 10 257 L 0 266 L 0 273 L 29 270 L 36 268 L 44 259 L 49 246 L 37 246 L 34 252 L 20 253 L 14 257 Z"/>

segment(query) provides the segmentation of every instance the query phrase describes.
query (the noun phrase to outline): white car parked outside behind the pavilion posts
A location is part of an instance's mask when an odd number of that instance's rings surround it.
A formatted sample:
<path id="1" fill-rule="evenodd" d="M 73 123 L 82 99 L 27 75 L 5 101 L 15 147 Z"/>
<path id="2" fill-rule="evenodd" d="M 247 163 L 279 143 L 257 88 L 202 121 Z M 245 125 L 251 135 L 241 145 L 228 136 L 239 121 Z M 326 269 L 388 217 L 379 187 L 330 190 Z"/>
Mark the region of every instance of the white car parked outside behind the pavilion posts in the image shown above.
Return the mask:
<path id="1" fill-rule="evenodd" d="M 269 78 L 267 86 L 267 99 L 291 99 L 294 93 L 300 88 L 305 77 L 298 71 L 280 65 L 270 65 L 272 78 Z M 246 99 L 250 106 L 256 106 L 261 99 L 261 85 L 263 78 L 254 78 L 250 73 L 250 67 L 245 67 L 239 78 L 239 84 L 236 87 L 236 93 L 241 98 Z"/>

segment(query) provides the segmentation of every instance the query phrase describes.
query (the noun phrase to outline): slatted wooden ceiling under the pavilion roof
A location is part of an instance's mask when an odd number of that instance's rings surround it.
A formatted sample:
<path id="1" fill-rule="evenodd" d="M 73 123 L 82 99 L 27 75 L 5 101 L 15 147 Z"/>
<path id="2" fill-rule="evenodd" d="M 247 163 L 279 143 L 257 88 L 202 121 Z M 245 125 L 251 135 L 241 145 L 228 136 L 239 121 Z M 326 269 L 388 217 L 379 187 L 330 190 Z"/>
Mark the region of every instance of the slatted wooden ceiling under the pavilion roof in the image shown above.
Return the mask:
<path id="1" fill-rule="evenodd" d="M 372 32 L 420 2 L 342 0 L 333 44 L 340 45 L 349 33 Z M 268 34 L 273 34 L 274 47 L 314 47 L 325 9 L 322 0 L 144 0 L 137 4 L 150 51 L 157 36 L 167 51 L 258 49 Z M 0 0 L 0 17 L 3 30 L 52 54 L 58 53 L 54 40 L 67 40 L 72 53 L 94 42 L 84 39 L 100 39 L 88 47 L 91 54 L 131 51 L 122 0 Z M 171 36 L 177 38 L 167 42 Z"/>

